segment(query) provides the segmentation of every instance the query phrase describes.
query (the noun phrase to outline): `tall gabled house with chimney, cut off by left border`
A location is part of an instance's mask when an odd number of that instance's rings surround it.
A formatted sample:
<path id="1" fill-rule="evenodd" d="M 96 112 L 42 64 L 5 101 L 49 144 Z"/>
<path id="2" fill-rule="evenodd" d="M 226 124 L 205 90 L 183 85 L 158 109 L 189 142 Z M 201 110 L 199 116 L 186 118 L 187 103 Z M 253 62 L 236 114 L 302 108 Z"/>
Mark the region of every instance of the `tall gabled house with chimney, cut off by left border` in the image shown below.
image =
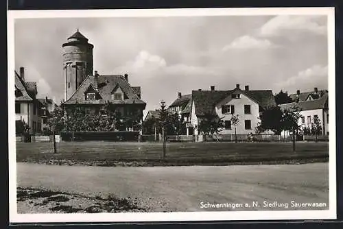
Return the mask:
<path id="1" fill-rule="evenodd" d="M 36 98 L 36 82 L 25 82 L 25 69 L 20 73 L 14 71 L 15 77 L 15 112 L 16 121 L 25 121 L 29 126 L 29 133 L 34 134 L 42 130 L 41 108 L 42 104 Z"/>

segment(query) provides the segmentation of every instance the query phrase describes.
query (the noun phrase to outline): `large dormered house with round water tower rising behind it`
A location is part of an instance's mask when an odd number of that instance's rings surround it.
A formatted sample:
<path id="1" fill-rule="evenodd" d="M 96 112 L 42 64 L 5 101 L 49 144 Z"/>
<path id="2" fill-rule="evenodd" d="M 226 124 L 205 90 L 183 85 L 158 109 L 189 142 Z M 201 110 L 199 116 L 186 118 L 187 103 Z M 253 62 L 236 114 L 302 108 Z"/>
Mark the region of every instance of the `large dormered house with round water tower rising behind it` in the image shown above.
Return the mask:
<path id="1" fill-rule="evenodd" d="M 146 103 L 141 99 L 140 86 L 131 86 L 127 74 L 99 75 L 97 71 L 93 74 L 93 45 L 79 31 L 62 47 L 65 101 L 61 106 L 67 114 L 78 106 L 86 114 L 106 116 L 110 106 L 117 115 L 139 117 L 142 123 Z"/>

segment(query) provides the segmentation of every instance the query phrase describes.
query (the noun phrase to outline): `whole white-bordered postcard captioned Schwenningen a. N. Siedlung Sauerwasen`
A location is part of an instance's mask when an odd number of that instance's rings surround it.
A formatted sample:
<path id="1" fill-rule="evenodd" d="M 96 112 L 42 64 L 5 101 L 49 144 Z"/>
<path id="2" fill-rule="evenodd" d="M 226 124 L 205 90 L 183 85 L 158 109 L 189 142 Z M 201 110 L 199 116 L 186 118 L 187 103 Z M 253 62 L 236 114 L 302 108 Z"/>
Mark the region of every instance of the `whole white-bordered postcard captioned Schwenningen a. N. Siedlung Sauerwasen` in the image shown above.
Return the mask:
<path id="1" fill-rule="evenodd" d="M 335 219 L 334 36 L 333 8 L 9 11 L 10 221 Z"/>

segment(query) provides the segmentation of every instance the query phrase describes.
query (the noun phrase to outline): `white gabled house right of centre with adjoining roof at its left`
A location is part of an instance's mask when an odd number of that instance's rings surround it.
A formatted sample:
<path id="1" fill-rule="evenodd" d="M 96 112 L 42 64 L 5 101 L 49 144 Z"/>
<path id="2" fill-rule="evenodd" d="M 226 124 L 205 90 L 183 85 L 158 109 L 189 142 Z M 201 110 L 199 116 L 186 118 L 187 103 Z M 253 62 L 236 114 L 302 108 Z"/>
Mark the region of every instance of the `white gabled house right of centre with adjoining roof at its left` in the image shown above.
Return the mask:
<path id="1" fill-rule="evenodd" d="M 210 91 L 199 89 L 185 97 L 179 93 L 178 99 L 169 109 L 179 112 L 187 120 L 187 135 L 201 134 L 198 125 L 206 114 L 215 115 L 224 121 L 225 129 L 220 134 L 235 133 L 230 119 L 233 115 L 238 115 L 237 133 L 249 134 L 255 133 L 255 128 L 259 125 L 260 112 L 270 106 L 276 106 L 271 90 L 250 91 L 249 86 L 241 90 L 237 84 L 236 88 L 228 91 L 216 91 L 215 86 L 211 86 Z"/>

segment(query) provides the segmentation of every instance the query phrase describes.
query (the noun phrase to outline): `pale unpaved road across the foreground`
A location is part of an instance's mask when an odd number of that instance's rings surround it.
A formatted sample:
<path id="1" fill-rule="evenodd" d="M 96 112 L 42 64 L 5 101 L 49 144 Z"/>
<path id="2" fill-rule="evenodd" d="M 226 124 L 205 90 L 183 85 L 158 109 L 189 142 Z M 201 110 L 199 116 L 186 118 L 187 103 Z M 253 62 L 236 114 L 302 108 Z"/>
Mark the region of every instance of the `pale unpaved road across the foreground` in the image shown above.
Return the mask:
<path id="1" fill-rule="evenodd" d="M 296 203 L 326 203 L 329 164 L 193 167 L 86 167 L 18 162 L 17 184 L 67 193 L 137 198 L 152 211 L 296 210 Z M 265 207 L 264 201 L 289 208 Z M 201 208 L 203 203 L 250 204 L 250 208 Z M 252 207 L 258 202 L 259 207 Z"/>

